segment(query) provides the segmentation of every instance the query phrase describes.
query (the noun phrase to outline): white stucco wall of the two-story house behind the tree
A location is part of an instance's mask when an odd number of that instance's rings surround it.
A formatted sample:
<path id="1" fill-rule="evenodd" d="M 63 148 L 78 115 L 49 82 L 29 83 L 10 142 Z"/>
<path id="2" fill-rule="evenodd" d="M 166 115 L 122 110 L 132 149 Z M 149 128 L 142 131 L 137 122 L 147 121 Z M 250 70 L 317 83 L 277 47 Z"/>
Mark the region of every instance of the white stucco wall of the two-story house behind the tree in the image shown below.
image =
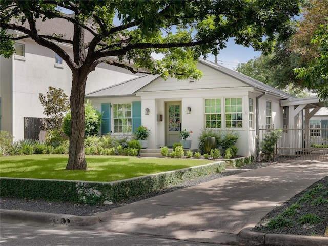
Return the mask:
<path id="1" fill-rule="evenodd" d="M 65 61 L 63 67 L 55 66 L 55 53 L 52 50 L 39 46 L 32 40 L 19 41 L 19 43 L 25 45 L 25 59 L 17 59 L 13 56 L 11 75 L 6 75 L 12 77 L 12 91 L 6 90 L 12 94 L 12 105 L 2 103 L 2 112 L 12 108 L 12 118 L 9 122 L 7 120 L 9 116 L 4 115 L 2 129 L 8 129 L 13 134 L 14 140 L 24 138 L 24 117 L 45 117 L 43 106 L 39 103 L 39 93 L 45 95 L 48 87 L 52 86 L 63 89 L 64 93 L 70 96 L 72 85 L 71 70 Z M 72 54 L 69 47 L 64 49 Z M 88 76 L 86 93 L 136 76 L 128 70 L 100 64 Z"/>

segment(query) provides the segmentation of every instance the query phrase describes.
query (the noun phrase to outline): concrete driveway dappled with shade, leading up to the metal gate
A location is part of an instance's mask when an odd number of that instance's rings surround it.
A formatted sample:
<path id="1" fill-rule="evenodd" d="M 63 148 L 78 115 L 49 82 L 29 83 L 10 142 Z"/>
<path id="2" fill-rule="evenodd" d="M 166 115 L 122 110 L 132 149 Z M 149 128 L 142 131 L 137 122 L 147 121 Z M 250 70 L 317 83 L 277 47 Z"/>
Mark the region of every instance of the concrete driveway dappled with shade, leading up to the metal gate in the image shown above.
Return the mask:
<path id="1" fill-rule="evenodd" d="M 196 242 L 328 245 L 328 238 L 323 237 L 265 235 L 249 230 L 276 206 L 326 175 L 327 161 L 291 160 L 141 200 L 89 218 L 70 216 L 68 220 L 62 216 L 61 220 L 75 228 Z M 3 213 L 1 216 L 3 219 Z"/>

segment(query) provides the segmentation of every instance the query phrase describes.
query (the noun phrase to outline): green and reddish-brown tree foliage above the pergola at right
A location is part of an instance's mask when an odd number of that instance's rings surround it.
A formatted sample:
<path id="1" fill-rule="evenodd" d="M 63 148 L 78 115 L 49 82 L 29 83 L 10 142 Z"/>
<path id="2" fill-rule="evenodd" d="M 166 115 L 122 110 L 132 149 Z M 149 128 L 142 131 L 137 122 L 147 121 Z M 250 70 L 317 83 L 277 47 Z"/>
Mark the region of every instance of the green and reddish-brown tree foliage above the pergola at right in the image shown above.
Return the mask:
<path id="1" fill-rule="evenodd" d="M 295 33 L 289 39 L 277 42 L 272 54 L 262 54 L 239 64 L 236 70 L 299 97 L 306 95 L 304 89 L 307 89 L 327 99 L 328 2 L 305 1 L 302 17 L 295 20 L 294 25 Z"/>

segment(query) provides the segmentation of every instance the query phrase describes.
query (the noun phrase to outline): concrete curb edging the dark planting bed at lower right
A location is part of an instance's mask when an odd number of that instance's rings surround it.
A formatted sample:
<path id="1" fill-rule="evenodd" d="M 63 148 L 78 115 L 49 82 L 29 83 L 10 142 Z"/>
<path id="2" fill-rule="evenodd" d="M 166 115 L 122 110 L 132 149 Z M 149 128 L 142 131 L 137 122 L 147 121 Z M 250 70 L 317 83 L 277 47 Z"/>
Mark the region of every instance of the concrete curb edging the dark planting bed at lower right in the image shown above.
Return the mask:
<path id="1" fill-rule="evenodd" d="M 253 232 L 251 228 L 241 230 L 237 238 L 238 242 L 249 246 L 323 246 L 328 245 L 327 237 L 289 235 L 289 234 L 267 234 Z"/>

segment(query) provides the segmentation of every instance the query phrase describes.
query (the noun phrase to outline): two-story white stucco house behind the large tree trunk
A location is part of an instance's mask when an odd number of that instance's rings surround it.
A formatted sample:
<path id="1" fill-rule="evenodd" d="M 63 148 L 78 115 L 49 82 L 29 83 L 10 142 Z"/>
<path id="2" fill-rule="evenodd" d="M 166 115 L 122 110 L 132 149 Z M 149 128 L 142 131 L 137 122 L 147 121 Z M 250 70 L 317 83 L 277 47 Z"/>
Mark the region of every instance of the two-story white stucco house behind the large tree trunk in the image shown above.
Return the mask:
<path id="1" fill-rule="evenodd" d="M 44 34 L 58 33 L 65 37 L 73 35 L 72 26 L 63 19 L 56 23 L 46 20 L 37 22 L 37 28 Z M 17 31 L 16 37 L 22 35 Z M 88 38 L 88 33 L 86 33 Z M 72 48 L 61 45 L 70 55 Z M 61 88 L 70 96 L 72 72 L 65 61 L 55 52 L 36 44 L 31 39 L 18 40 L 15 43 L 16 54 L 9 59 L 0 56 L 0 130 L 14 136 L 14 140 L 23 139 L 26 133 L 26 118 L 44 118 L 39 93 L 46 94 L 48 87 Z M 139 76 L 126 69 L 108 64 L 99 64 L 88 76 L 86 92 L 91 92 L 121 81 Z"/>

